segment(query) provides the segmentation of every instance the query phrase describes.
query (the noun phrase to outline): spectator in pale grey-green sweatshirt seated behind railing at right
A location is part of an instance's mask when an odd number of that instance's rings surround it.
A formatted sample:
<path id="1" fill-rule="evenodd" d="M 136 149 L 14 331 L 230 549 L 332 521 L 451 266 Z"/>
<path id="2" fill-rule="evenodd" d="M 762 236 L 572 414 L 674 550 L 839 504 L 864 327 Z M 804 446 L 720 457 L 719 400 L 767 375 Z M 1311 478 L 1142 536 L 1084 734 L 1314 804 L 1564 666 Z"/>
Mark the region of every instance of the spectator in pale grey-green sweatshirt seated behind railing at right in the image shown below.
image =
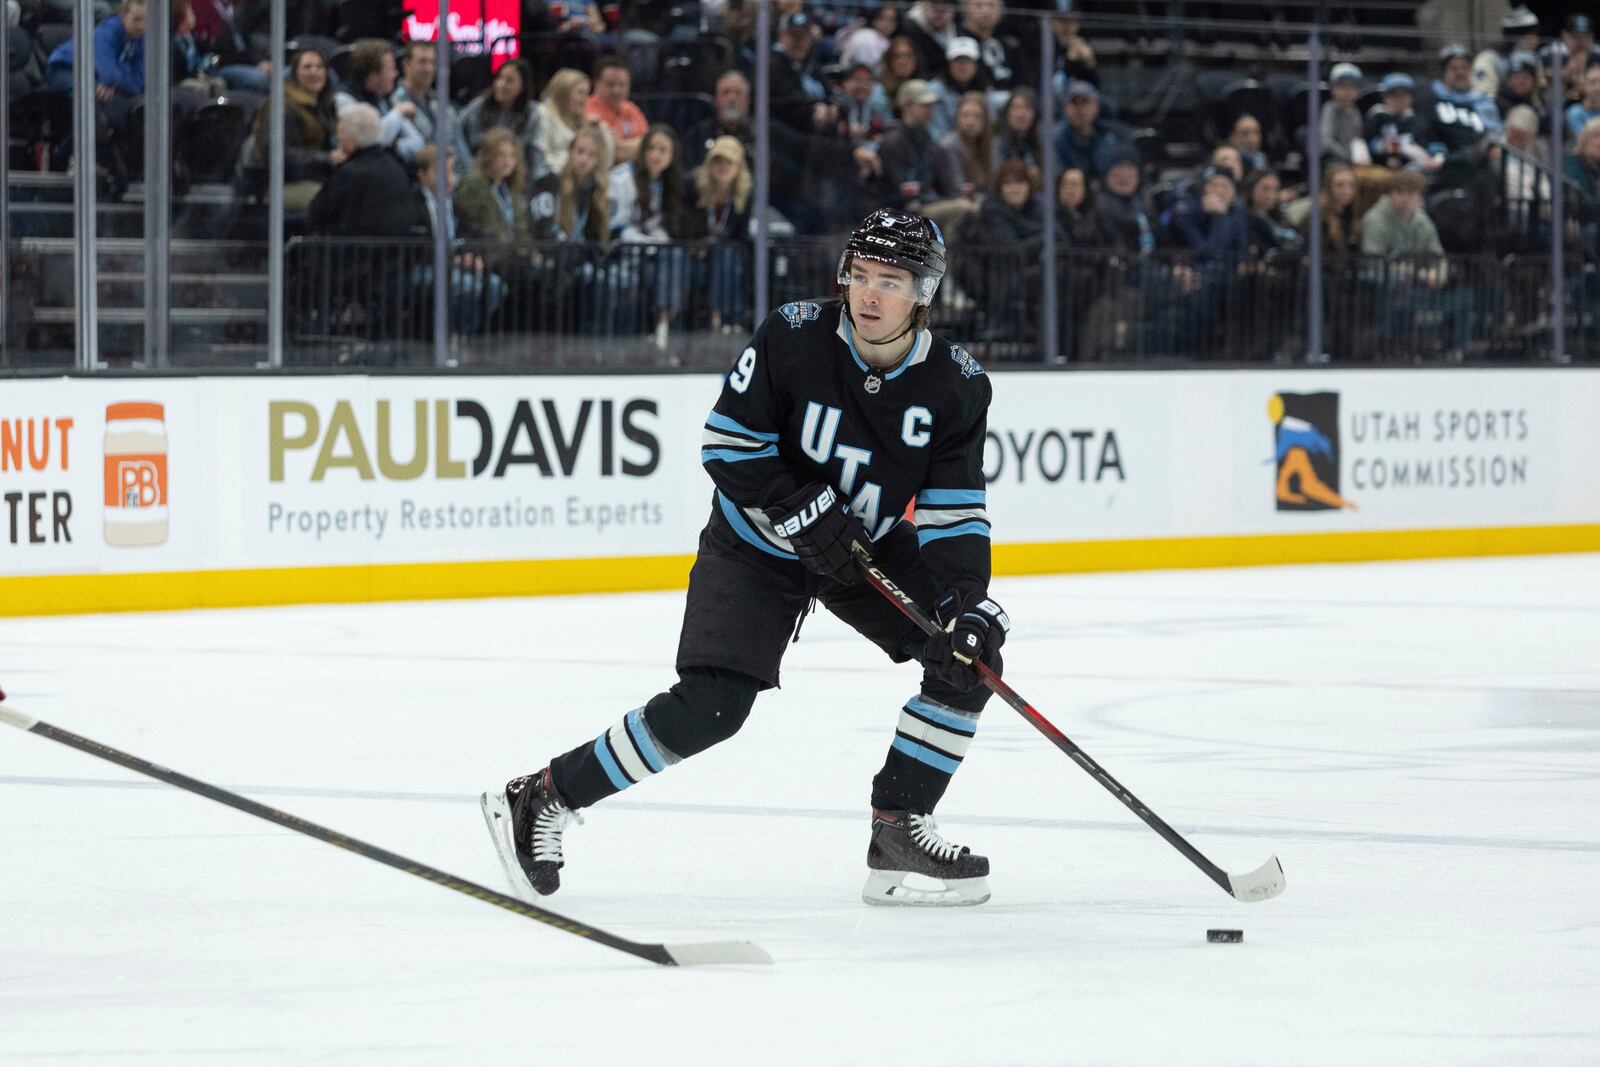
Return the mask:
<path id="1" fill-rule="evenodd" d="M 1443 291 L 1448 283 L 1445 246 L 1434 221 L 1422 210 L 1427 181 L 1416 171 L 1398 171 L 1389 179 L 1389 194 L 1362 216 L 1362 253 L 1403 256 L 1384 285 L 1389 302 L 1386 322 L 1390 333 L 1410 333 L 1418 312 L 1438 312 L 1459 354 L 1470 331 L 1470 296 L 1466 290 Z M 1421 258 L 1421 261 L 1419 261 Z"/>

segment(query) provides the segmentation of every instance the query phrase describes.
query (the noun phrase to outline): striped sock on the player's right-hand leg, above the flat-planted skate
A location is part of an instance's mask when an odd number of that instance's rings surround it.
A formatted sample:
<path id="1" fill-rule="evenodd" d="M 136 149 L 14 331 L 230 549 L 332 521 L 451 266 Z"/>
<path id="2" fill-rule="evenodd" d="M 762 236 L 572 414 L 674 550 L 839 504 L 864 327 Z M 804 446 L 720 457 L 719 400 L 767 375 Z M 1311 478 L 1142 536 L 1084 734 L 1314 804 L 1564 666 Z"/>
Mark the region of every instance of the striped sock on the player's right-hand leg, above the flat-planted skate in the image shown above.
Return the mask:
<path id="1" fill-rule="evenodd" d="M 957 707 L 934 699 L 925 686 L 909 699 L 901 709 L 883 769 L 872 779 L 872 806 L 933 811 L 978 733 L 978 717 L 987 697 L 989 691 L 978 688 L 957 697 L 968 707 Z"/>

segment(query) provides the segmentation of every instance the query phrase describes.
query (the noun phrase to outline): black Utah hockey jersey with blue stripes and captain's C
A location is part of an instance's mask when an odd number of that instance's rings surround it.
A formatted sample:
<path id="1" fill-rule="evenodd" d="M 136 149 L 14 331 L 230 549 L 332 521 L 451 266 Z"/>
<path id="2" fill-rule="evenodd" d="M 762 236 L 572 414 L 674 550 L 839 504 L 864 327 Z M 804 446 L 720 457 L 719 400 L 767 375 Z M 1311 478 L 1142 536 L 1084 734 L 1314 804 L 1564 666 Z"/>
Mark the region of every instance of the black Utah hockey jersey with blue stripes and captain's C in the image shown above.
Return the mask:
<path id="1" fill-rule="evenodd" d="M 922 553 L 941 589 L 989 584 L 984 435 L 989 376 L 923 330 L 894 366 L 856 352 L 840 301 L 784 304 L 734 360 L 706 419 L 701 462 L 712 525 L 752 552 L 794 560 L 762 506 L 832 485 L 874 541 L 915 501 Z"/>

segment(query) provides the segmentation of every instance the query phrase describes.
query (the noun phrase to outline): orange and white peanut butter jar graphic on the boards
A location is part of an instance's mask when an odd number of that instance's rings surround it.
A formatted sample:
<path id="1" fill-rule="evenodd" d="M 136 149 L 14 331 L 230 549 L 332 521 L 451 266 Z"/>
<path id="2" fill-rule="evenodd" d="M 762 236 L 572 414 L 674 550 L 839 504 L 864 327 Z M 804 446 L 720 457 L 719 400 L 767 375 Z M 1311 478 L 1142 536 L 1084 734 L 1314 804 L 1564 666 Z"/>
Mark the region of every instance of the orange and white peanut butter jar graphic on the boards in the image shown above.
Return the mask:
<path id="1" fill-rule="evenodd" d="M 166 542 L 166 410 L 106 405 L 106 544 Z"/>

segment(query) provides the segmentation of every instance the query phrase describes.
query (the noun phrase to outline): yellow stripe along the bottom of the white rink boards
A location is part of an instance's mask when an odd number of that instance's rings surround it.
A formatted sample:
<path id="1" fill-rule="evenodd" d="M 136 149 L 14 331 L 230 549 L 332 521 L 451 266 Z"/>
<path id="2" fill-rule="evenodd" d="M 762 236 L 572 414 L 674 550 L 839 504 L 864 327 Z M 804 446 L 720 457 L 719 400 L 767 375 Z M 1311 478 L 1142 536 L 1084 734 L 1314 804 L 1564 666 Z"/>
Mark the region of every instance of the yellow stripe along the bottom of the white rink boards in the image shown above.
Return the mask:
<path id="1" fill-rule="evenodd" d="M 1000 544 L 995 574 L 1600 552 L 1600 525 Z M 0 577 L 0 616 L 683 589 L 688 555 Z"/>

